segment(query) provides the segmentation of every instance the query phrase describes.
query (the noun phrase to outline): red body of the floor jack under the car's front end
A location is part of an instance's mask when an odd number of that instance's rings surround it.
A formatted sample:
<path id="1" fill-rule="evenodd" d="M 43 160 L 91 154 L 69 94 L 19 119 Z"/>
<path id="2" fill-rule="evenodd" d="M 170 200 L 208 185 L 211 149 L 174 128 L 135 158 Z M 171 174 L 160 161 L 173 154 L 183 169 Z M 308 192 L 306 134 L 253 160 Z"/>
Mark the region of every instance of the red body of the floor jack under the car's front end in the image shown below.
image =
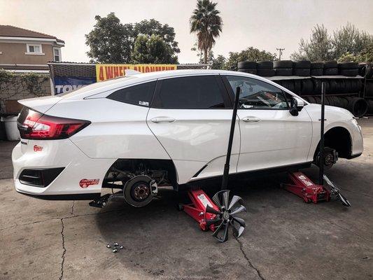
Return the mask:
<path id="1" fill-rule="evenodd" d="M 316 204 L 320 201 L 328 202 L 330 200 L 330 192 L 323 186 L 316 185 L 302 172 L 289 173 L 289 178 L 293 184 L 281 184 L 281 187 L 288 190 L 290 193 L 302 197 L 304 202 L 314 202 Z"/>

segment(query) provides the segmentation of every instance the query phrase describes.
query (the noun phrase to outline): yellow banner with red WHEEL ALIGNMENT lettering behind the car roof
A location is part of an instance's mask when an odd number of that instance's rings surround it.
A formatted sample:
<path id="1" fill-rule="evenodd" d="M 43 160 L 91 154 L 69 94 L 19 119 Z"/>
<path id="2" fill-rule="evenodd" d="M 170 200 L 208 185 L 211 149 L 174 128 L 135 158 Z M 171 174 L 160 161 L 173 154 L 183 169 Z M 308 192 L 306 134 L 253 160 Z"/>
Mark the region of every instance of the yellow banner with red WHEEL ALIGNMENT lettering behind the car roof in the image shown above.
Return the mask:
<path id="1" fill-rule="evenodd" d="M 136 70 L 142 73 L 176 70 L 176 64 L 96 64 L 97 82 L 125 76 L 126 70 Z"/>

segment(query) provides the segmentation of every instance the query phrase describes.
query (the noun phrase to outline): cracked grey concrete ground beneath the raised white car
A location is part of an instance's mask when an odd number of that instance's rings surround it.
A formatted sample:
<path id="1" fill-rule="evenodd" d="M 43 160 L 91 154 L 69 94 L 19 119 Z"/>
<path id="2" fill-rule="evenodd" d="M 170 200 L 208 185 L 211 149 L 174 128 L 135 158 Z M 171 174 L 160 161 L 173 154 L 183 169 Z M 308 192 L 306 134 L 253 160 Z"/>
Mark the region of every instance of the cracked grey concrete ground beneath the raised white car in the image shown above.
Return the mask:
<path id="1" fill-rule="evenodd" d="M 373 279 L 373 121 L 360 125 L 363 155 L 328 171 L 351 208 L 305 204 L 279 188 L 285 174 L 257 179 L 234 190 L 246 202 L 247 226 L 225 244 L 176 211 L 171 190 L 142 209 L 17 194 L 15 144 L 2 142 L 0 279 Z M 125 248 L 112 253 L 109 241 Z"/>

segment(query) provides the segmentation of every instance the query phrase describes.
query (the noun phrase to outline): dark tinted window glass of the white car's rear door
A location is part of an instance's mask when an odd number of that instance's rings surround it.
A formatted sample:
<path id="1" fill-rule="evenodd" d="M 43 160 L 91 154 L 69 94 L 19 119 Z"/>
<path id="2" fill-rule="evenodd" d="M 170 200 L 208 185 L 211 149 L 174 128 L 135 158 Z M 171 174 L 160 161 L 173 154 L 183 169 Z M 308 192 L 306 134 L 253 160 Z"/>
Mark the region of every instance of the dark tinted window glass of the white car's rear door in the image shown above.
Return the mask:
<path id="1" fill-rule="evenodd" d="M 167 109 L 225 108 L 215 76 L 192 76 L 162 80 L 153 106 Z"/>

